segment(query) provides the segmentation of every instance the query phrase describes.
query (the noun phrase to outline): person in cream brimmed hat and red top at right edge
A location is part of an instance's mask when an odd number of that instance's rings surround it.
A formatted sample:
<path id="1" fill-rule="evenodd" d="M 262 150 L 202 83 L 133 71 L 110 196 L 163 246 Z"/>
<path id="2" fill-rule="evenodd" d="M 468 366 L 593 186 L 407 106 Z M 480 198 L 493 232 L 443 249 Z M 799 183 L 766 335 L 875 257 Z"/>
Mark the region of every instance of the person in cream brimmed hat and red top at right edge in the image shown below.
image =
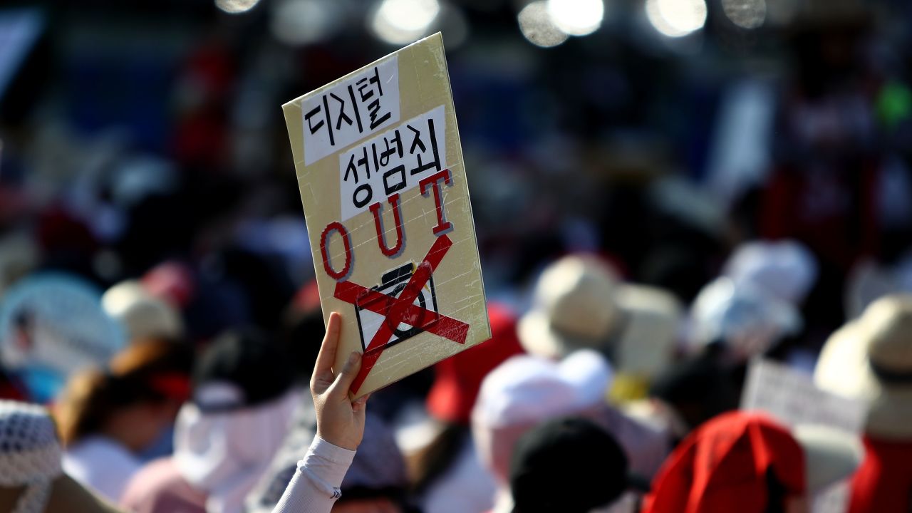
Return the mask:
<path id="1" fill-rule="evenodd" d="M 850 513 L 912 504 L 912 295 L 879 298 L 824 345 L 814 382 L 864 401 L 865 460 L 852 479 Z"/>

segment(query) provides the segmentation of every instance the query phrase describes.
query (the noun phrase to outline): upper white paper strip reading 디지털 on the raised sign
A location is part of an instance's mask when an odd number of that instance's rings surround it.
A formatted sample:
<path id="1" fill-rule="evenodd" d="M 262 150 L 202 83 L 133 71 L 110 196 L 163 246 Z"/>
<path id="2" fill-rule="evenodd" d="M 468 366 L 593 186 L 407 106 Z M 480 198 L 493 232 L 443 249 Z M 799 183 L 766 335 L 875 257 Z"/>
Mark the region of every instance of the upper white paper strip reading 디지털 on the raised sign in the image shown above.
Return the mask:
<path id="1" fill-rule="evenodd" d="M 302 102 L 305 165 L 399 121 L 396 56 Z"/>

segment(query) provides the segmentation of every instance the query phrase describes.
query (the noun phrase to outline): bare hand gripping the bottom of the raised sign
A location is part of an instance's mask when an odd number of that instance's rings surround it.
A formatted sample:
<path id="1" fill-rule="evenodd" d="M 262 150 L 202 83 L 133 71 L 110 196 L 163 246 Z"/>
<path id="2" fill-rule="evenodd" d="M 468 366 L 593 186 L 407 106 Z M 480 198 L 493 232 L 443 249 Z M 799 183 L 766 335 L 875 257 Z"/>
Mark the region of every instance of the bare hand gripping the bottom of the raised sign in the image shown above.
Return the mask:
<path id="1" fill-rule="evenodd" d="M 339 342 L 342 316 L 329 314 L 326 336 L 316 356 L 310 393 L 316 408 L 316 435 L 332 445 L 354 451 L 364 436 L 364 409 L 368 396 L 352 402 L 348 389 L 361 370 L 361 353 L 352 351 L 341 372 L 333 372 Z"/>

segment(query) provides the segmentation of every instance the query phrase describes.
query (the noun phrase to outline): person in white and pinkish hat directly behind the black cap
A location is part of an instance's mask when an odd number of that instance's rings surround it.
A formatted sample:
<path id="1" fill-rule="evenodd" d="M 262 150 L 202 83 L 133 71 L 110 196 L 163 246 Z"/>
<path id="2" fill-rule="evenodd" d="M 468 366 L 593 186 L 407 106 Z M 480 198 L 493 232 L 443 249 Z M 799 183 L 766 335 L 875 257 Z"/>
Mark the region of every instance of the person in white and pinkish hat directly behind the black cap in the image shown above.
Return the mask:
<path id="1" fill-rule="evenodd" d="M 472 411 L 472 435 L 498 488 L 495 512 L 513 508 L 510 464 L 516 440 L 556 416 L 586 416 L 617 438 L 631 474 L 646 479 L 655 474 L 668 454 L 667 441 L 606 403 L 611 373 L 601 354 L 578 350 L 560 362 L 514 356 L 484 378 Z"/>

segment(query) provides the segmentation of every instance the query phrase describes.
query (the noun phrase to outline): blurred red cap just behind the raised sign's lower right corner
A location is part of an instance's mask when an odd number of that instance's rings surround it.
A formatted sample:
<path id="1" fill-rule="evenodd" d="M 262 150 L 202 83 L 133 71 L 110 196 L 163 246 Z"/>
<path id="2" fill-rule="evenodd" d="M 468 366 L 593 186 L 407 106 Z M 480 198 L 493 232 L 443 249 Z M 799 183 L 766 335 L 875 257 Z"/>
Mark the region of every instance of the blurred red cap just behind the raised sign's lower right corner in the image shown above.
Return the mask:
<path id="1" fill-rule="evenodd" d="M 503 306 L 488 305 L 491 340 L 462 351 L 434 366 L 436 378 L 428 393 L 428 411 L 454 424 L 469 424 L 484 376 L 501 362 L 523 353 L 516 337 L 516 316 Z"/>

